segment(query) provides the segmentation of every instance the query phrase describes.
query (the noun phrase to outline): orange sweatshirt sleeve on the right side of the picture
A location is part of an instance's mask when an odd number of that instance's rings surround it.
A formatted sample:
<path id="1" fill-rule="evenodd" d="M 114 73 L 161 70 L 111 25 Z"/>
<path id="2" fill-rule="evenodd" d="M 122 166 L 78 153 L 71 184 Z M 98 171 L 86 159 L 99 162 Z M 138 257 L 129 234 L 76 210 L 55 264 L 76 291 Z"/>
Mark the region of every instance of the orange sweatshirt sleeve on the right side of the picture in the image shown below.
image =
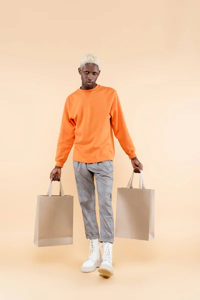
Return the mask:
<path id="1" fill-rule="evenodd" d="M 128 129 L 126 127 L 121 104 L 116 91 L 114 91 L 114 97 L 110 109 L 110 115 L 111 115 L 111 126 L 114 135 L 118 139 L 122 149 L 130 159 L 136 157 L 135 147 L 133 145 Z"/>

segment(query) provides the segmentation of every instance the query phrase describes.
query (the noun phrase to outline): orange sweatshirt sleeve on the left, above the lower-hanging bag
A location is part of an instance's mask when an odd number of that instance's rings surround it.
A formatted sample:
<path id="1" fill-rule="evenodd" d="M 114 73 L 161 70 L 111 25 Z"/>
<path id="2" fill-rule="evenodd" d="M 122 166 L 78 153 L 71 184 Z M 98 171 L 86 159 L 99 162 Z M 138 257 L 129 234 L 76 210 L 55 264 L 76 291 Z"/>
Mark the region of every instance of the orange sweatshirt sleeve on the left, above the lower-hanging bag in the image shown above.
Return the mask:
<path id="1" fill-rule="evenodd" d="M 62 114 L 61 127 L 57 142 L 56 166 L 63 167 L 75 139 L 75 123 L 68 116 L 68 98 L 66 99 Z"/>

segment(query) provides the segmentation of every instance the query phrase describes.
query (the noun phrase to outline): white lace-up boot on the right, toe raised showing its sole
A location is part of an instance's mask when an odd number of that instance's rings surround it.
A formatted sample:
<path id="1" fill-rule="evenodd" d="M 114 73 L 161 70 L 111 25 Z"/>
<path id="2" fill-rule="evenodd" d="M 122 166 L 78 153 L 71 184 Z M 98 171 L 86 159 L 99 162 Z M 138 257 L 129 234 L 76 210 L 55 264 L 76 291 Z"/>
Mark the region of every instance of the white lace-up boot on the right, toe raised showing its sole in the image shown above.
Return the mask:
<path id="1" fill-rule="evenodd" d="M 101 245 L 100 245 L 101 246 Z M 100 276 L 110 277 L 114 274 L 112 266 L 112 243 L 102 242 L 103 257 L 98 272 Z"/>

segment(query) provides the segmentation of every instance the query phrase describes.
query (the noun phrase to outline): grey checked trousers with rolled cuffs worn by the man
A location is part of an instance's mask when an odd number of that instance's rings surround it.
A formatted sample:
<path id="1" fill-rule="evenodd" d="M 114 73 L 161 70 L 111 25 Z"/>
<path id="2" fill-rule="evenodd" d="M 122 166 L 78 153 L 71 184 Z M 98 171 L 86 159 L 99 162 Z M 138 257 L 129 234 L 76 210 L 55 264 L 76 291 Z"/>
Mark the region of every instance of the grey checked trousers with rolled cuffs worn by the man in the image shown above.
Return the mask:
<path id="1" fill-rule="evenodd" d="M 95 239 L 100 237 L 99 241 L 101 242 L 113 242 L 112 160 L 95 163 L 83 163 L 73 160 L 73 168 L 86 238 Z M 96 221 L 94 177 L 98 193 L 100 236 Z"/>

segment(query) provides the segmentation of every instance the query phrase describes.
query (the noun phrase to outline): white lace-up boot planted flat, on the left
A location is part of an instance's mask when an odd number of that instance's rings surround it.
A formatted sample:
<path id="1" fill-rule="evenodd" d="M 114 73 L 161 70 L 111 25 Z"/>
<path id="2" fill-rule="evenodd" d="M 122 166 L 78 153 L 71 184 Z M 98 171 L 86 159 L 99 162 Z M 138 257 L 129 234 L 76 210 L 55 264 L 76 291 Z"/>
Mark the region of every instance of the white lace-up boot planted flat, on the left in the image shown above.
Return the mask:
<path id="1" fill-rule="evenodd" d="M 90 239 L 89 256 L 81 266 L 81 272 L 93 272 L 101 264 L 101 254 L 98 238 Z"/>

